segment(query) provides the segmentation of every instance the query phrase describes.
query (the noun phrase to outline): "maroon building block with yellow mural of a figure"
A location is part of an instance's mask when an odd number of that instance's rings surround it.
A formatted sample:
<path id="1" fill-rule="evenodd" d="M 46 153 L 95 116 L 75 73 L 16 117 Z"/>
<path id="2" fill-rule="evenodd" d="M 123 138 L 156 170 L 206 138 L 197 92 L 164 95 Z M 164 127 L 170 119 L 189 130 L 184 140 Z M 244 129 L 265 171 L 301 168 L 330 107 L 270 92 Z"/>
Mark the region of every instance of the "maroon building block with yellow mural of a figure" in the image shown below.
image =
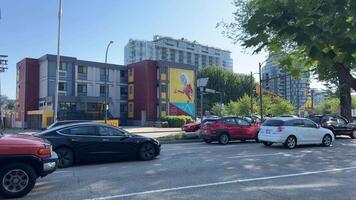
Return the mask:
<path id="1" fill-rule="evenodd" d="M 149 125 L 166 115 L 196 115 L 192 65 L 145 60 L 128 65 L 128 120 Z"/>

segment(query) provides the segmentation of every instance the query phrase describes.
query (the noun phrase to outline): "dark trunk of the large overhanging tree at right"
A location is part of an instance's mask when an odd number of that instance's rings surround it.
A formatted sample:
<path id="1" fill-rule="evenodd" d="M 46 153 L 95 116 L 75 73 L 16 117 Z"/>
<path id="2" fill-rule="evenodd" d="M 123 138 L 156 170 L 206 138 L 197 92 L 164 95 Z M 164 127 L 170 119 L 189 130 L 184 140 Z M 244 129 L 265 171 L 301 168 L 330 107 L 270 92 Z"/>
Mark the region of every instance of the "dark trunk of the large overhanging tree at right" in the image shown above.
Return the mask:
<path id="1" fill-rule="evenodd" d="M 352 76 L 350 70 L 345 68 L 345 66 L 338 66 L 337 76 L 339 79 L 339 90 L 340 90 L 340 114 L 349 121 L 352 121 L 351 115 L 351 82 Z M 355 89 L 355 88 L 354 88 Z"/>

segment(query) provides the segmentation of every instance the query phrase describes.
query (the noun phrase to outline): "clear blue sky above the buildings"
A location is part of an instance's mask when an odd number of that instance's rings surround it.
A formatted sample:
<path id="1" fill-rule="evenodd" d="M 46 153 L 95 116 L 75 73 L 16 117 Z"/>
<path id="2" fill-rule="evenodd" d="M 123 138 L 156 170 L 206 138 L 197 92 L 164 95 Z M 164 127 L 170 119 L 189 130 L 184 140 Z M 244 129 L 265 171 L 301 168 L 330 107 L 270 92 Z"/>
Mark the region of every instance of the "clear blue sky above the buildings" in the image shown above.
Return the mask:
<path id="1" fill-rule="evenodd" d="M 57 0 L 1 0 L 0 54 L 9 55 L 1 74 L 2 92 L 16 96 L 16 63 L 39 58 L 57 48 Z M 234 72 L 258 71 L 266 54 L 251 55 L 221 34 L 217 22 L 232 19 L 232 0 L 63 0 L 61 54 L 91 61 L 124 63 L 130 38 L 153 35 L 196 40 L 232 52 Z"/>

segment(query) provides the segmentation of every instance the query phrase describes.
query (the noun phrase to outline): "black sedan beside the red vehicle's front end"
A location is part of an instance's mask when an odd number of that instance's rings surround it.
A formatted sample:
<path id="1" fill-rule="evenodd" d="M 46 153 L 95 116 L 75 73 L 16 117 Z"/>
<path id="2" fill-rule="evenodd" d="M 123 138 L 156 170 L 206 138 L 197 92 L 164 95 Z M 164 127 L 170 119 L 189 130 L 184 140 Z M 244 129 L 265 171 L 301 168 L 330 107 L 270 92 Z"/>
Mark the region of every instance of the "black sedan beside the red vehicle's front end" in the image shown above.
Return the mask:
<path id="1" fill-rule="evenodd" d="M 58 154 L 58 167 L 85 161 L 138 158 L 151 160 L 160 154 L 160 143 L 152 138 L 132 135 L 122 128 L 86 122 L 57 126 L 36 133 L 49 140 Z"/>

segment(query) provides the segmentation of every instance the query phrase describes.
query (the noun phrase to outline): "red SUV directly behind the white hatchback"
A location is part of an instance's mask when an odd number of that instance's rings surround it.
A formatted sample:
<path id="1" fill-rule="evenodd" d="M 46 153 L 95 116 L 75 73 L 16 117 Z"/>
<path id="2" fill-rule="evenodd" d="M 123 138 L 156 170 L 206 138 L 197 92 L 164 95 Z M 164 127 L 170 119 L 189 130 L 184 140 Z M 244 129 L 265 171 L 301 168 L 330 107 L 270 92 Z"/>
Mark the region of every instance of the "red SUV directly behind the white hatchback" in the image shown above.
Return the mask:
<path id="1" fill-rule="evenodd" d="M 259 125 L 251 124 L 243 118 L 223 117 L 204 123 L 201 127 L 201 137 L 206 143 L 218 141 L 220 144 L 227 144 L 231 140 L 248 139 L 257 141 L 259 129 Z"/>

